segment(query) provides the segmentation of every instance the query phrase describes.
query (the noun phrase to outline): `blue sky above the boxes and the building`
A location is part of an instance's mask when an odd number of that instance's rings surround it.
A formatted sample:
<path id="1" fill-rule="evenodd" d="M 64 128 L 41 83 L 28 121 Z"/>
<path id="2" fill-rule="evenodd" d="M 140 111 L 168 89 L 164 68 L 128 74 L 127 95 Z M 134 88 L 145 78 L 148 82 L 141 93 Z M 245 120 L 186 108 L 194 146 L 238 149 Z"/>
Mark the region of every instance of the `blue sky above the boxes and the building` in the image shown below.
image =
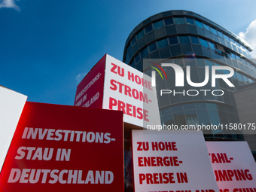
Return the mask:
<path id="1" fill-rule="evenodd" d="M 31 102 L 73 105 L 84 75 L 105 53 L 122 60 L 126 38 L 151 15 L 194 11 L 256 48 L 255 8 L 254 0 L 0 0 L 0 85 Z"/>

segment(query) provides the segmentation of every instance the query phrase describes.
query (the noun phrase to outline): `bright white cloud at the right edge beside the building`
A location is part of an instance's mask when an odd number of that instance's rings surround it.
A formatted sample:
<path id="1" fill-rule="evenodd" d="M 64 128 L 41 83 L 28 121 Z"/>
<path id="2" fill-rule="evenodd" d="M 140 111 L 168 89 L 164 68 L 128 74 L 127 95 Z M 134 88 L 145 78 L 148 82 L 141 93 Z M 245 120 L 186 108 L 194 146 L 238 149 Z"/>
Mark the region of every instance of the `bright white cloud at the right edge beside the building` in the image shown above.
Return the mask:
<path id="1" fill-rule="evenodd" d="M 244 39 L 251 45 L 252 53 L 254 53 L 254 58 L 256 58 L 256 20 L 252 21 L 246 32 L 239 32 L 239 37 Z"/>

